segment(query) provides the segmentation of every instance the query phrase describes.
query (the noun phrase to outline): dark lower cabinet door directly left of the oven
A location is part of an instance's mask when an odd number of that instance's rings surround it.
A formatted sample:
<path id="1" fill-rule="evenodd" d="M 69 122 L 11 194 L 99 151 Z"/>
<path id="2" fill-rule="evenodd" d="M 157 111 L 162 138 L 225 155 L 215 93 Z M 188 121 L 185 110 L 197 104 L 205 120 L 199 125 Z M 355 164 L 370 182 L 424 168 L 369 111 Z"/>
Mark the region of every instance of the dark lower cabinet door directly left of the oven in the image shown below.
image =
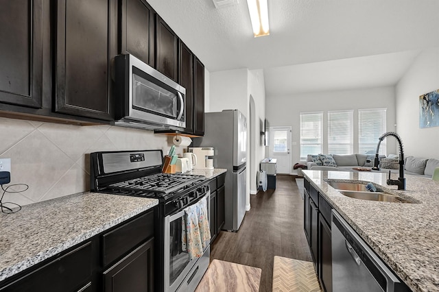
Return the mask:
<path id="1" fill-rule="evenodd" d="M 154 291 L 154 239 L 104 272 L 105 292 Z"/>

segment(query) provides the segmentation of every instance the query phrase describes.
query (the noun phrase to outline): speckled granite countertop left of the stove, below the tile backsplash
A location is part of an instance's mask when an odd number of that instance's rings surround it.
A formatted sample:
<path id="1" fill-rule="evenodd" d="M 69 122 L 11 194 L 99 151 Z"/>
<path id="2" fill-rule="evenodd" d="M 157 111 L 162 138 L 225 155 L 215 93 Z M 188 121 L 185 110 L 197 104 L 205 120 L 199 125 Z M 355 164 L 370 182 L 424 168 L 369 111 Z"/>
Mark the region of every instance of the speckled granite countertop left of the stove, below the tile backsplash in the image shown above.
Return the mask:
<path id="1" fill-rule="evenodd" d="M 143 197 L 78 193 L 0 213 L 0 281 L 157 204 Z"/>

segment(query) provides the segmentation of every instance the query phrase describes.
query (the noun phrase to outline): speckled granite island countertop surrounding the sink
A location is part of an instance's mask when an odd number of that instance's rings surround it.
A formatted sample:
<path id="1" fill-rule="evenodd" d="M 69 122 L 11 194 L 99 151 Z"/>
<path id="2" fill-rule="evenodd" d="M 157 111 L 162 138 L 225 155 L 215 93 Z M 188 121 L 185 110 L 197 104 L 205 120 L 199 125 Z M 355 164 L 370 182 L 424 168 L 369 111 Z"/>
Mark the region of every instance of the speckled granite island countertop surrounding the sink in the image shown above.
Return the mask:
<path id="1" fill-rule="evenodd" d="M 405 175 L 406 191 L 386 184 L 386 173 L 302 171 L 311 184 L 413 291 L 439 290 L 439 182 Z M 392 174 L 392 179 L 397 178 Z M 346 197 L 327 180 L 373 182 L 417 202 L 388 203 Z"/>

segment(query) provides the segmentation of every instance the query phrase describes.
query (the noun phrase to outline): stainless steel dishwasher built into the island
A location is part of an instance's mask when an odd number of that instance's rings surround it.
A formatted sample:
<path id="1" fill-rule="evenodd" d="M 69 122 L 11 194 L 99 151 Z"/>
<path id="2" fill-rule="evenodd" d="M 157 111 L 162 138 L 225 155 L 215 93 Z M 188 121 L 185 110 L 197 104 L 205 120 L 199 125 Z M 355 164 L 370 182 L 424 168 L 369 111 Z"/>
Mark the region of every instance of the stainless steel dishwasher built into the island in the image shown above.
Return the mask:
<path id="1" fill-rule="evenodd" d="M 335 210 L 331 244 L 333 291 L 410 291 Z"/>

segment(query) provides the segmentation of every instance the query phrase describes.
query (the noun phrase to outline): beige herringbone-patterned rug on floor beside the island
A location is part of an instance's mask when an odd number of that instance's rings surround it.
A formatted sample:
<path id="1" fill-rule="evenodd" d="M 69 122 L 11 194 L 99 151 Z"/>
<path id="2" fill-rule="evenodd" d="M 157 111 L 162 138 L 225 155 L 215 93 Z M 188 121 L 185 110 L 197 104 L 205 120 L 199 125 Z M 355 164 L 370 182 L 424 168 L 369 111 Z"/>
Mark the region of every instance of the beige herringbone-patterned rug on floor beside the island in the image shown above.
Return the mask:
<path id="1" fill-rule="evenodd" d="M 273 292 L 320 292 L 313 263 L 274 256 Z"/>

